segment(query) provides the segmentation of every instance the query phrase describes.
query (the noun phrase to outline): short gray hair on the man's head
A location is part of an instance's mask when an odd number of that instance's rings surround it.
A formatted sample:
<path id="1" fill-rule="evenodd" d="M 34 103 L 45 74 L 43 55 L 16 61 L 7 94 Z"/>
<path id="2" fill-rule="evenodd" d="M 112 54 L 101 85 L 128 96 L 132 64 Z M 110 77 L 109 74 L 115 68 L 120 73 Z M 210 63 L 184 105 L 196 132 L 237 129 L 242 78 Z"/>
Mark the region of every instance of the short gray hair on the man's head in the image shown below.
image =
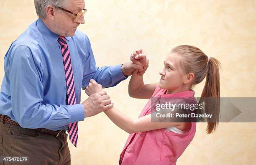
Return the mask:
<path id="1" fill-rule="evenodd" d="M 57 7 L 66 7 L 69 3 L 69 0 L 34 0 L 36 14 L 39 18 L 46 18 L 46 7 L 48 5 L 53 5 Z"/>

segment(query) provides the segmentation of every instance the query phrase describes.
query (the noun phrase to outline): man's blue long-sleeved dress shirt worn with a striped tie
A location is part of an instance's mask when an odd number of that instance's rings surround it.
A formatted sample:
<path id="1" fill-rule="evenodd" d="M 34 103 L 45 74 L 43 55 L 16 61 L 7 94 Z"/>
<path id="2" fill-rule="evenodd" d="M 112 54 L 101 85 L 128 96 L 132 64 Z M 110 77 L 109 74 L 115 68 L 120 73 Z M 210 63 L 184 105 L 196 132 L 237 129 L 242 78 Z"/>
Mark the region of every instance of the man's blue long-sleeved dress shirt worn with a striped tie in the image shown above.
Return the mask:
<path id="1" fill-rule="evenodd" d="M 39 18 L 11 44 L 5 55 L 0 114 L 24 128 L 67 129 L 69 123 L 84 120 L 84 108 L 79 104 L 81 88 L 85 89 L 90 79 L 106 88 L 127 78 L 122 74 L 121 65 L 95 67 L 90 41 L 81 31 L 65 38 L 77 104 L 66 103 L 67 87 L 58 35 Z"/>

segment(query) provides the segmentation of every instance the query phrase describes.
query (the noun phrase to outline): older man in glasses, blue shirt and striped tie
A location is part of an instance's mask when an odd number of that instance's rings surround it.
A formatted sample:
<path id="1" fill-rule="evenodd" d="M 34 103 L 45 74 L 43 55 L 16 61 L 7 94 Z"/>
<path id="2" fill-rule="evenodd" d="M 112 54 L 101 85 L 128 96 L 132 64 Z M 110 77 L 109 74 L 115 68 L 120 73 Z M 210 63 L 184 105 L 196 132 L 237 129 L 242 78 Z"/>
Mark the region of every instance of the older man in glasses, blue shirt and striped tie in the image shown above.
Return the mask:
<path id="1" fill-rule="evenodd" d="M 95 67 L 90 41 L 77 30 L 84 24 L 84 6 L 84 0 L 35 0 L 38 20 L 11 44 L 4 59 L 1 156 L 28 157 L 29 164 L 70 164 L 66 131 L 77 146 L 78 122 L 113 107 L 105 91 L 80 104 L 81 88 L 90 79 L 112 87 L 135 69 L 146 70 L 147 65 L 131 61 Z"/>

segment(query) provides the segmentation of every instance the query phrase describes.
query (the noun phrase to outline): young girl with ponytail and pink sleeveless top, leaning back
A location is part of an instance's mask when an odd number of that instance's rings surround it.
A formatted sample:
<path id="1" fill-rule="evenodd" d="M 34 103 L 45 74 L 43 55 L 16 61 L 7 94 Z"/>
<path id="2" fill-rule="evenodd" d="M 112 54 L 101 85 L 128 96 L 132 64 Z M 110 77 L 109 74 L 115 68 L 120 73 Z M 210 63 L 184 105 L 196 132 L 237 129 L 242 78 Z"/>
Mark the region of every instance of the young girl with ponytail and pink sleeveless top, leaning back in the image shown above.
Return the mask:
<path id="1" fill-rule="evenodd" d="M 142 52 L 134 53 L 132 61 Z M 138 61 L 137 61 L 138 62 Z M 142 64 L 142 63 L 141 63 Z M 151 122 L 151 97 L 184 98 L 197 101 L 192 87 L 206 77 L 205 87 L 198 104 L 203 103 L 205 112 L 212 114 L 207 133 L 215 131 L 220 113 L 220 63 L 205 55 L 199 48 L 181 45 L 172 49 L 164 61 L 159 83 L 144 84 L 143 76 L 134 71 L 129 82 L 129 95 L 149 99 L 138 119 L 131 119 L 114 107 L 105 114 L 121 129 L 130 133 L 120 155 L 122 165 L 175 165 L 195 135 L 195 122 Z M 90 81 L 86 93 L 91 95 L 102 88 Z M 213 101 L 205 98 L 215 98 Z"/>

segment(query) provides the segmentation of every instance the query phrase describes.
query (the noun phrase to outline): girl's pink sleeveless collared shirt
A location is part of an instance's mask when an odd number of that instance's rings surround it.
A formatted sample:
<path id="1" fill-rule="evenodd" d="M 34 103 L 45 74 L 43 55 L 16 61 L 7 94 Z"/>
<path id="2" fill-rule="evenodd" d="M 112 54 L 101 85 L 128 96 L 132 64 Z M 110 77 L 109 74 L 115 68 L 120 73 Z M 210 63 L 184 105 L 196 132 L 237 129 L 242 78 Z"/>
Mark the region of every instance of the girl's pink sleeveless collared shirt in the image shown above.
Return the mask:
<path id="1" fill-rule="evenodd" d="M 165 94 L 165 89 L 156 87 L 152 97 L 186 98 L 197 104 L 195 91 L 183 91 L 175 94 Z M 139 117 L 151 114 L 151 99 L 143 108 Z M 196 123 L 192 122 L 191 129 L 184 134 L 168 132 L 165 128 L 130 134 L 120 154 L 119 163 L 122 165 L 176 165 L 195 136 Z"/>

